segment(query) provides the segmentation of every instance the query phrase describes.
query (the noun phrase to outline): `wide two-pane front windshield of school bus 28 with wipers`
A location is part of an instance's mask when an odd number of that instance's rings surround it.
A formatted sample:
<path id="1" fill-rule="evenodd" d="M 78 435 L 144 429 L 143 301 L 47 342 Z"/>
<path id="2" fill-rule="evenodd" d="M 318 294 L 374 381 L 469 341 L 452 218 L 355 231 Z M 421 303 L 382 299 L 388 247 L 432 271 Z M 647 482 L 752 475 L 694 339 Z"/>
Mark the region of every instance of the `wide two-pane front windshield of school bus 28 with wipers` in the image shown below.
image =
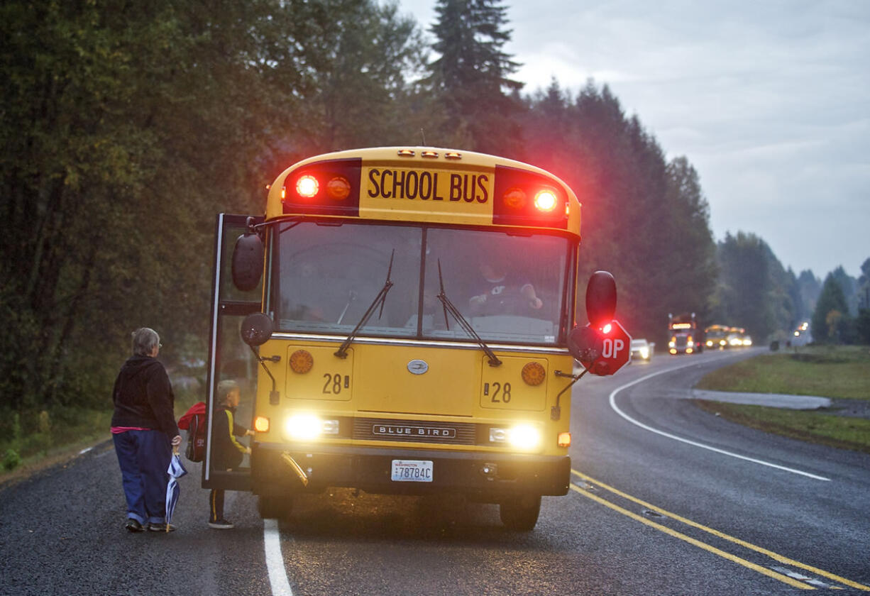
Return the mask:
<path id="1" fill-rule="evenodd" d="M 271 308 L 279 331 L 349 334 L 388 273 L 383 309 L 360 335 L 473 342 L 445 312 L 442 288 L 485 341 L 552 345 L 565 331 L 566 238 L 338 222 L 275 230 Z"/>

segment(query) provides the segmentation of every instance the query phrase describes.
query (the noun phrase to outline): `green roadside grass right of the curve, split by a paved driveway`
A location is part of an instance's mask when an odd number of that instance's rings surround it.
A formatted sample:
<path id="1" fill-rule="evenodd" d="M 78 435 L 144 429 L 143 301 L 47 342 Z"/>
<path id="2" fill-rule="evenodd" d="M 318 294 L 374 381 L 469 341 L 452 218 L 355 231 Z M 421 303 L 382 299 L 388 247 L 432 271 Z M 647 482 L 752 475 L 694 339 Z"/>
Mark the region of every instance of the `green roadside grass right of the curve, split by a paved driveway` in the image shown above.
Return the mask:
<path id="1" fill-rule="evenodd" d="M 742 360 L 708 373 L 697 389 L 814 395 L 870 400 L 867 346 L 810 346 Z M 870 453 L 870 419 L 830 411 L 801 411 L 698 400 L 708 412 L 766 432 Z"/>

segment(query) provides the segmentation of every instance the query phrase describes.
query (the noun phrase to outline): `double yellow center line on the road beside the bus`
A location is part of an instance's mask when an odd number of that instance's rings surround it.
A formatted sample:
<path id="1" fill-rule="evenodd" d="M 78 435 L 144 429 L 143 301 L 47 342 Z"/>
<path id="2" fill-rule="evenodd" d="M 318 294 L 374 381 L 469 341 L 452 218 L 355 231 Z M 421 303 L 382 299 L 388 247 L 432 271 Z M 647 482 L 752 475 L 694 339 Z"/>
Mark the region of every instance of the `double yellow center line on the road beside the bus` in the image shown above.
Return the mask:
<path id="1" fill-rule="evenodd" d="M 644 507 L 646 507 L 646 509 L 649 509 L 650 511 L 659 512 L 668 518 L 676 519 L 677 521 L 679 521 L 683 524 L 686 524 L 686 526 L 692 526 L 694 528 L 698 528 L 699 530 L 702 530 L 702 531 L 707 532 L 709 534 L 713 534 L 713 536 L 716 536 L 717 538 L 728 540 L 729 542 L 733 542 L 736 545 L 743 546 L 744 548 L 748 548 L 749 550 L 752 550 L 755 552 L 760 552 L 761 554 L 764 554 L 767 557 L 770 557 L 771 559 L 779 561 L 780 563 L 783 563 L 785 565 L 800 567 L 800 569 L 804 569 L 808 572 L 815 573 L 815 574 L 820 575 L 822 577 L 825 577 L 827 579 L 833 579 L 833 581 L 837 581 L 837 582 L 840 582 L 840 583 L 845 584 L 847 586 L 857 588 L 857 589 L 862 590 L 864 592 L 870 592 L 870 586 L 864 586 L 863 584 L 859 584 L 858 582 L 852 581 L 851 579 L 846 579 L 846 578 L 840 577 L 839 575 L 836 575 L 834 573 L 830 573 L 830 572 L 824 571 L 822 569 L 819 569 L 817 567 L 806 565 L 805 563 L 801 563 L 800 561 L 796 561 L 794 559 L 789 559 L 788 557 L 784 557 L 781 554 L 778 554 L 778 553 L 773 552 L 773 551 L 769 551 L 766 548 L 762 548 L 761 546 L 755 546 L 752 543 L 746 542 L 746 540 L 741 540 L 739 538 L 729 536 L 728 534 L 726 534 L 724 532 L 719 532 L 719 530 L 714 530 L 711 527 L 703 526 L 703 525 L 699 524 L 698 522 L 695 522 L 691 519 L 686 519 L 686 518 L 681 517 L 675 513 L 666 511 L 665 509 L 662 509 L 661 507 L 657 507 L 657 506 L 652 505 L 651 503 L 647 503 L 644 500 L 637 499 L 636 497 L 632 497 L 632 495 L 626 494 L 625 492 L 622 492 L 622 491 L 619 491 L 619 489 L 613 488 L 612 486 L 608 486 L 603 482 L 599 482 L 599 480 L 593 479 L 591 476 L 587 476 L 583 472 L 578 472 L 577 470 L 572 470 L 571 472 L 573 474 L 576 474 L 577 476 L 579 476 L 579 478 L 584 479 L 587 482 L 593 483 L 595 486 L 600 486 L 600 487 L 606 489 L 607 491 L 612 492 L 613 494 L 619 495 L 619 497 L 622 497 L 623 499 L 628 499 L 628 500 L 632 501 L 633 503 L 637 503 L 640 506 L 644 506 Z M 691 539 L 688 536 L 684 537 L 684 535 L 680 534 L 679 532 L 674 532 L 666 526 L 661 526 L 659 524 L 656 524 L 655 522 L 650 521 L 649 519 L 643 518 L 635 513 L 629 512 L 628 510 L 623 509 L 622 507 L 612 505 L 612 503 L 610 503 L 609 501 L 606 501 L 605 499 L 601 499 L 600 497 L 598 497 L 596 495 L 592 495 L 589 492 L 586 492 L 586 491 L 583 491 L 579 488 L 576 488 L 573 485 L 571 485 L 571 487 L 574 491 L 578 492 L 579 494 L 582 494 L 585 497 L 589 497 L 590 499 L 599 501 L 603 505 L 611 507 L 612 509 L 614 509 L 616 511 L 623 512 L 626 515 L 628 515 L 629 517 L 631 517 L 632 519 L 638 519 L 639 521 L 645 523 L 647 526 L 657 527 L 660 530 L 662 530 L 663 532 L 671 534 L 671 535 L 673 535 L 677 538 L 680 538 L 680 539 L 686 539 L 686 541 L 691 542 L 692 544 L 695 544 L 696 546 L 700 546 L 701 548 L 705 548 L 706 550 L 709 550 L 711 552 L 716 552 L 717 554 L 721 553 L 723 556 L 726 557 L 726 559 L 731 559 L 736 563 L 740 563 L 740 565 L 744 565 L 744 563 L 741 561 L 745 561 L 745 559 L 740 559 L 739 557 L 733 557 L 733 555 L 729 555 L 726 552 L 718 551 L 718 549 L 714 549 L 713 546 L 706 545 L 705 543 Z M 786 583 L 789 583 L 789 584 L 792 584 L 792 582 L 796 581 L 792 578 L 788 578 L 785 575 L 781 575 L 780 573 L 775 573 L 775 572 L 769 571 L 766 569 L 766 567 L 756 566 L 753 563 L 750 563 L 749 561 L 745 561 L 745 562 L 746 562 L 746 564 L 748 564 L 746 566 L 750 567 L 751 569 L 755 569 L 756 571 L 760 571 L 760 573 L 764 573 L 765 575 L 770 575 L 771 577 L 775 577 L 775 579 L 780 579 L 780 581 L 785 581 L 785 579 L 783 579 L 783 578 L 788 579 L 788 581 L 786 581 Z M 800 582 L 797 582 L 797 584 L 801 588 L 809 587 L 810 589 L 813 589 L 811 586 L 806 586 L 806 584 L 803 584 Z M 793 584 L 793 585 L 795 585 L 795 584 Z"/>

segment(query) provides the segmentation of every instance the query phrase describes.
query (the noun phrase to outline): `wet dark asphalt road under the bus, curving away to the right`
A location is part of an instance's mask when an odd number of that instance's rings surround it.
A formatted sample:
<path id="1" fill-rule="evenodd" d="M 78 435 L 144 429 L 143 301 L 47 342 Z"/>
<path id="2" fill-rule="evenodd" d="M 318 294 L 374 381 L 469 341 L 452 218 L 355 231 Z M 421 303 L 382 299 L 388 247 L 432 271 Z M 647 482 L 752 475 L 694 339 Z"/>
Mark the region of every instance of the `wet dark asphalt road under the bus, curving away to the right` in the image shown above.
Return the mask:
<path id="1" fill-rule="evenodd" d="M 299 499 L 279 523 L 229 492 L 237 527 L 211 530 L 189 464 L 180 529 L 131 534 L 114 451 L 97 445 L 0 490 L 0 594 L 870 591 L 870 456 L 746 429 L 679 398 L 749 353 L 656 356 L 582 379 L 572 490 L 545 498 L 528 533 L 505 531 L 496 506 L 346 490 Z"/>

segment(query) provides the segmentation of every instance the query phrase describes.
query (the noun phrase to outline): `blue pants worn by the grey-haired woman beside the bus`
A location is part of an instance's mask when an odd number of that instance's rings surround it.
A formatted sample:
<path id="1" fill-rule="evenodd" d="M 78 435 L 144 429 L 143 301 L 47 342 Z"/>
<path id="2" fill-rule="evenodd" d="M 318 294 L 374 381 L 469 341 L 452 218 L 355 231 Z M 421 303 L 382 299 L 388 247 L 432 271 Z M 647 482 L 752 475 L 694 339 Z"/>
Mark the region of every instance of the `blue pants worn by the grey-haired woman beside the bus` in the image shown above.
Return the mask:
<path id="1" fill-rule="evenodd" d="M 113 434 L 117 463 L 121 466 L 127 517 L 140 524 L 166 520 L 166 469 L 172 445 L 165 432 L 125 431 Z"/>

